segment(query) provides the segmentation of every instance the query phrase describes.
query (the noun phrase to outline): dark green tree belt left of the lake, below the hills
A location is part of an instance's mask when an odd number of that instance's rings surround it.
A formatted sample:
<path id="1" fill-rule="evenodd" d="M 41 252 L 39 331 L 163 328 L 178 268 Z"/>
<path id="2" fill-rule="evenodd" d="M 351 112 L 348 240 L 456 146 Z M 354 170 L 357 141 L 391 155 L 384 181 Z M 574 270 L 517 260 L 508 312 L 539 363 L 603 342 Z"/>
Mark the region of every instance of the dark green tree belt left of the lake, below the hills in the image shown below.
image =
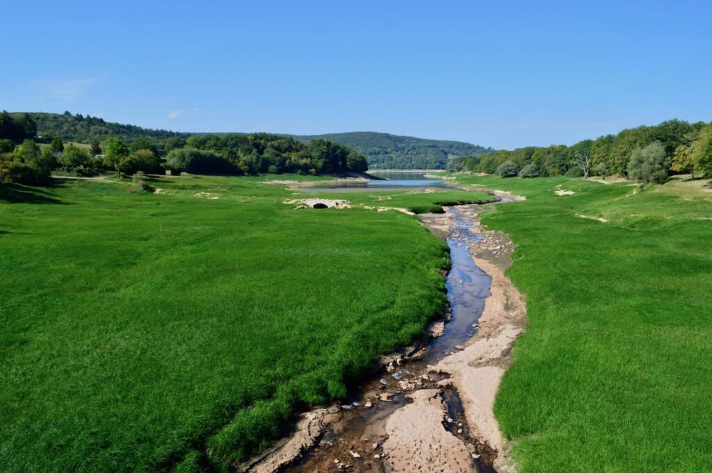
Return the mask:
<path id="1" fill-rule="evenodd" d="M 76 117 L 73 119 L 76 120 Z M 0 182 L 42 184 L 53 171 L 93 176 L 105 171 L 137 173 L 297 174 L 352 173 L 367 169 L 365 156 L 325 139 L 308 143 L 283 135 L 205 134 L 161 140 L 109 136 L 87 146 L 44 135 L 29 114 L 0 114 Z"/>

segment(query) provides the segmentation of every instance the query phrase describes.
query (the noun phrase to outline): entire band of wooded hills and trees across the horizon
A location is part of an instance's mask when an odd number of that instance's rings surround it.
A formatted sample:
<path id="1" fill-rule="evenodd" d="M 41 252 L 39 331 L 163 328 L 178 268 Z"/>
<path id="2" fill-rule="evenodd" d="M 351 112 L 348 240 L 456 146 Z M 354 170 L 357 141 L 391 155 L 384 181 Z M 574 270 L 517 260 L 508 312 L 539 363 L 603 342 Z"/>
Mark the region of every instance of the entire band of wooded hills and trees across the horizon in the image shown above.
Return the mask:
<path id="1" fill-rule="evenodd" d="M 66 142 L 83 142 L 78 147 Z M 40 147 L 38 144 L 42 144 Z M 47 146 L 49 145 L 49 146 Z M 444 169 L 500 176 L 624 176 L 662 182 L 671 173 L 712 174 L 712 124 L 671 119 L 570 147 L 513 151 L 462 142 L 355 132 L 315 136 L 184 134 L 51 113 L 0 114 L 0 181 L 38 182 L 62 169 L 194 174 L 300 174 Z"/>

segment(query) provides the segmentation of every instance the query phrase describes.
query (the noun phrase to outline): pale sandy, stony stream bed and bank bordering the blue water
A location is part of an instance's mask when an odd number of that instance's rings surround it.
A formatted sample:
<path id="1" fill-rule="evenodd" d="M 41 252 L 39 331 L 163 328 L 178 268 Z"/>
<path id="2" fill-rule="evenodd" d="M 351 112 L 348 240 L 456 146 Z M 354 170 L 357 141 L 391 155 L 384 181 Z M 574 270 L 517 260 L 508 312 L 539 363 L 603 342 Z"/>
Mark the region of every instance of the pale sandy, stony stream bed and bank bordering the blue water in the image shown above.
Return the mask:
<path id="1" fill-rule="evenodd" d="M 519 200 L 496 194 L 506 201 Z M 469 253 L 492 281 L 483 312 L 473 324 L 476 334 L 444 354 L 433 348 L 429 356 L 431 343 L 384 358 L 382 378 L 359 386 L 359 397 L 352 403 L 305 414 L 302 424 L 308 429 L 253 459 L 243 471 L 513 470 L 493 403 L 511 364 L 513 342 L 525 328 L 526 311 L 523 296 L 504 275 L 513 245 L 503 233 L 480 228 L 478 213 L 485 208 L 458 206 L 456 211 L 422 216 L 423 224 L 440 238 L 456 228 L 456 218 L 476 234 L 468 240 Z M 436 321 L 431 332 L 439 334 L 441 325 Z M 448 324 L 444 327 L 447 331 Z M 315 412 L 319 421 L 309 424 Z"/>

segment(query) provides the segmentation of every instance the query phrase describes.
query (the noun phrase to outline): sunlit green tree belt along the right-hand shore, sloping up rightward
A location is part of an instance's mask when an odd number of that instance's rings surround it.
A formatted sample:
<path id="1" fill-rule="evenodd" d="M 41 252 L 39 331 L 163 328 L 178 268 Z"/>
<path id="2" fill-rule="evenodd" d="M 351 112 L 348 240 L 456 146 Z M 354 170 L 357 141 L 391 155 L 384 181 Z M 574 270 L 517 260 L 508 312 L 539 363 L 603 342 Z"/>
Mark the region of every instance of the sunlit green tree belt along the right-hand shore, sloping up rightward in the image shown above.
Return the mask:
<path id="1" fill-rule="evenodd" d="M 466 156 L 451 171 L 521 176 L 624 176 L 661 182 L 670 173 L 712 174 L 712 124 L 671 119 L 655 126 L 624 129 L 570 147 L 525 147 Z"/>

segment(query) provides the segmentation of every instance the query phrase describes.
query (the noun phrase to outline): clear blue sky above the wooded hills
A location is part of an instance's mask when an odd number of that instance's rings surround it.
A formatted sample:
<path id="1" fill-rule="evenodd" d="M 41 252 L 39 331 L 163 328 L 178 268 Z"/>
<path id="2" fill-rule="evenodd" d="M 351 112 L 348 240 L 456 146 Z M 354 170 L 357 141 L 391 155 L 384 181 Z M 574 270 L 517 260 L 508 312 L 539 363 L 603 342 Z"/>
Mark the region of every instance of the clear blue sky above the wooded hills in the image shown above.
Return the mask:
<path id="1" fill-rule="evenodd" d="M 712 120 L 704 1 L 6 2 L 0 109 L 511 149 Z"/>

